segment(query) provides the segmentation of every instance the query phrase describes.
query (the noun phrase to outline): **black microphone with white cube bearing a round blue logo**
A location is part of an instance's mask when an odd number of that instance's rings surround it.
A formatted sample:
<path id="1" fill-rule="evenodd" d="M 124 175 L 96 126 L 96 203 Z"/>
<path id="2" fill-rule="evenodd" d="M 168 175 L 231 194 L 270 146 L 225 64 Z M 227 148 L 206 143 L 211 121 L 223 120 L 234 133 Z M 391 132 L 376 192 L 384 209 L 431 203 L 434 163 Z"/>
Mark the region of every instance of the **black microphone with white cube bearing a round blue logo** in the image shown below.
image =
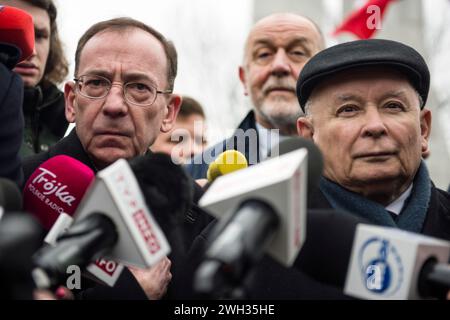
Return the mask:
<path id="1" fill-rule="evenodd" d="M 295 267 L 357 298 L 445 299 L 449 256 L 447 241 L 369 225 L 346 212 L 309 210 Z"/>

